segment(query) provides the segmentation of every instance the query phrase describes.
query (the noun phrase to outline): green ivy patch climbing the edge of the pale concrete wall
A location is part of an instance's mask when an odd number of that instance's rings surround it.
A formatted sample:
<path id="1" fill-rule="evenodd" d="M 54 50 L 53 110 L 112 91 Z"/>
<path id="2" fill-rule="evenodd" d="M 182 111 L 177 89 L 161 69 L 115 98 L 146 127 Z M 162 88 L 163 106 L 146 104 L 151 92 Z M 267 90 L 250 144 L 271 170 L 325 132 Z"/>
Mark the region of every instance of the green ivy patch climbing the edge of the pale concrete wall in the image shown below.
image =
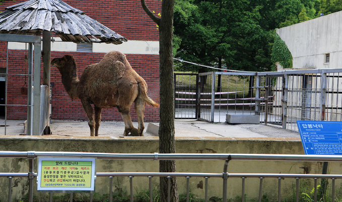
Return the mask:
<path id="1" fill-rule="evenodd" d="M 288 49 L 288 46 L 280 38 L 280 36 L 275 34 L 275 42 L 272 48 L 272 62 L 279 62 L 284 68 L 292 68 L 292 55 Z"/>

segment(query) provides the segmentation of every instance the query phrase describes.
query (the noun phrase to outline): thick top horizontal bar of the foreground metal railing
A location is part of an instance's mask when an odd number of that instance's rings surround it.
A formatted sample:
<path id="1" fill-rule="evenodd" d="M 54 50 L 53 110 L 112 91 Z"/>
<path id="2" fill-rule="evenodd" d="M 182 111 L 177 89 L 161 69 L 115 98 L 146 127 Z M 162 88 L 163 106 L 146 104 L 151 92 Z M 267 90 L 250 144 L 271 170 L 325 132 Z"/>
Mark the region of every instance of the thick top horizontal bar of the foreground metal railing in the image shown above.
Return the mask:
<path id="1" fill-rule="evenodd" d="M 342 155 L 293 155 L 293 154 L 118 154 L 92 152 L 17 152 L 0 151 L 0 158 L 39 158 L 39 157 L 69 157 L 98 158 L 117 160 L 257 160 L 257 161 L 342 161 Z"/>

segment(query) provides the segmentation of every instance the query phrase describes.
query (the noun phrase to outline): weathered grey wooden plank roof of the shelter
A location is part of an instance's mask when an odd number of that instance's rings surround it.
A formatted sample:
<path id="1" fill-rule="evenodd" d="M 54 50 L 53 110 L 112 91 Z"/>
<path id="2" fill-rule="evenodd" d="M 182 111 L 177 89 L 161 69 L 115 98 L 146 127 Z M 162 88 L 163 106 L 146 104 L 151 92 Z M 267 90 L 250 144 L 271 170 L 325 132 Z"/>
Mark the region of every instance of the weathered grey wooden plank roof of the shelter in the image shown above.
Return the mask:
<path id="1" fill-rule="evenodd" d="M 0 14 L 1 34 L 41 35 L 51 31 L 62 41 L 121 44 L 127 39 L 61 0 L 30 0 Z"/>

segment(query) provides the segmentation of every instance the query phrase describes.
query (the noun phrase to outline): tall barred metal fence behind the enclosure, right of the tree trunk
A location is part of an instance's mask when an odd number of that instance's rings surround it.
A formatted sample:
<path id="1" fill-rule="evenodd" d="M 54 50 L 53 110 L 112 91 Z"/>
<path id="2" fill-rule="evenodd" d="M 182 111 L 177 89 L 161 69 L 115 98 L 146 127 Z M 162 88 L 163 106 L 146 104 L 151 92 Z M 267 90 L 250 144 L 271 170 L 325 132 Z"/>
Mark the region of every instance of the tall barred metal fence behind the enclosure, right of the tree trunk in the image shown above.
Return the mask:
<path id="1" fill-rule="evenodd" d="M 175 83 L 181 82 L 180 75 Z M 191 99 L 191 104 L 182 103 L 182 113 L 197 109 L 199 120 L 226 122 L 227 114 L 259 115 L 260 123 L 293 131 L 298 131 L 297 120 L 342 120 L 342 69 L 206 72 L 198 76 L 192 84 L 199 83 L 197 95 L 193 91 L 191 98 L 179 97 L 178 90 L 176 100 Z M 189 86 L 191 81 L 182 82 Z M 175 118 L 181 116 L 178 106 L 176 103 Z"/>

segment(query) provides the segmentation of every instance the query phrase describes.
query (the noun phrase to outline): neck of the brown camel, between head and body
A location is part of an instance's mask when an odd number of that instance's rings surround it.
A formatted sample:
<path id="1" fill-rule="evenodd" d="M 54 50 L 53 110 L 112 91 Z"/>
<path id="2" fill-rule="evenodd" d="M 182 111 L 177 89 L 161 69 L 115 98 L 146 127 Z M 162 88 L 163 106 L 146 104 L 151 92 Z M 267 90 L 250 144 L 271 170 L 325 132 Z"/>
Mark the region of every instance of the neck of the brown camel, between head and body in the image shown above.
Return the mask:
<path id="1" fill-rule="evenodd" d="M 62 75 L 62 83 L 64 85 L 65 91 L 72 99 L 79 99 L 77 93 L 77 86 L 80 82 L 79 76 L 77 75 L 77 66 L 66 69 Z"/>

